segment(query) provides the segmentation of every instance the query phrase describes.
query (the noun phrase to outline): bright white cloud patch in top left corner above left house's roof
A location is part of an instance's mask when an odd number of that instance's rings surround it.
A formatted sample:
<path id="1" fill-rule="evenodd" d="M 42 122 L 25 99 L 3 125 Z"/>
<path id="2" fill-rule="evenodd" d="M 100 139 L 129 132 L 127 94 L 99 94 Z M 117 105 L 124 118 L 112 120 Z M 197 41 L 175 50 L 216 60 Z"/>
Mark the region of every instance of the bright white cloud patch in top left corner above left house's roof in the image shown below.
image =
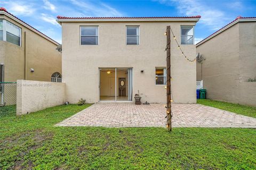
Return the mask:
<path id="1" fill-rule="evenodd" d="M 6 10 L 13 15 L 27 16 L 36 11 L 33 4 L 25 4 L 23 2 L 3 2 L 3 5 L 5 5 Z"/>

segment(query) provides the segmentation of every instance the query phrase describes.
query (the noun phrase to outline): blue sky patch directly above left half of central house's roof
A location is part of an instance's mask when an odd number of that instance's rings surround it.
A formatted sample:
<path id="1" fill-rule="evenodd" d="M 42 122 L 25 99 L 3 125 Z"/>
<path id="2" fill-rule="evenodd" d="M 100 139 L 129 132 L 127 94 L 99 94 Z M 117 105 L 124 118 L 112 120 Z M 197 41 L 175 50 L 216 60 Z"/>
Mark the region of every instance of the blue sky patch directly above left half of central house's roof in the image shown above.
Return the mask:
<path id="1" fill-rule="evenodd" d="M 71 0 L 71 3 L 76 5 L 77 10 L 80 10 L 85 16 L 123 16 L 121 12 L 104 3 L 77 0 Z"/>

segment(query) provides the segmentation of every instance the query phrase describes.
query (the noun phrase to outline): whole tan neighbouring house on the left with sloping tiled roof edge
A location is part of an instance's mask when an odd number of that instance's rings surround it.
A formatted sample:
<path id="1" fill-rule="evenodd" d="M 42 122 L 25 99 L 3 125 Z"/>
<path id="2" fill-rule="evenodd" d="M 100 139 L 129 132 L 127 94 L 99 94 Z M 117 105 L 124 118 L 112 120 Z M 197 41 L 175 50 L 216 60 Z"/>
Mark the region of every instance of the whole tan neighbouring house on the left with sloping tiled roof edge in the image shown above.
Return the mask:
<path id="1" fill-rule="evenodd" d="M 61 53 L 56 50 L 58 45 L 5 8 L 0 8 L 0 82 L 61 81 L 55 78 L 61 77 Z M 1 83 L 1 103 L 8 97 L 9 104 L 14 104 L 15 94 L 10 94 L 14 90 L 10 92 L 3 86 Z M 5 100 L 2 98 L 4 90 Z"/>

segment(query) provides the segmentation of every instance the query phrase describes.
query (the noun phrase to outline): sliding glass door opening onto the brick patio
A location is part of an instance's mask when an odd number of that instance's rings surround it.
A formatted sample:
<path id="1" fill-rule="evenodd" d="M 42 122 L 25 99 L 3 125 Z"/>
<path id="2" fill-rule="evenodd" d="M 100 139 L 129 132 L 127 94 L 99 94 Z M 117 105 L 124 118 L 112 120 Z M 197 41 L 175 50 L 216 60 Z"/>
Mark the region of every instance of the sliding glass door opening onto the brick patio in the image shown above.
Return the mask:
<path id="1" fill-rule="evenodd" d="M 132 69 L 99 69 L 100 101 L 132 101 Z"/>

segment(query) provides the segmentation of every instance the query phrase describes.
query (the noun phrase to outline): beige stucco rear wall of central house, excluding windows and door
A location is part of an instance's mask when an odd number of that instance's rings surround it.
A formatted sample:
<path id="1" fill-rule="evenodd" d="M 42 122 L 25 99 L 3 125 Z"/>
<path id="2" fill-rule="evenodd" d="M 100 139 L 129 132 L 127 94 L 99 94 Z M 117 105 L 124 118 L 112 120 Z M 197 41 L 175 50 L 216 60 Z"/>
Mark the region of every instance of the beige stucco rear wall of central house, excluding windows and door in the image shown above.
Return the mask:
<path id="1" fill-rule="evenodd" d="M 67 100 L 98 102 L 99 67 L 132 67 L 133 96 L 140 90 L 142 102 L 165 103 L 164 86 L 155 85 L 155 67 L 166 66 L 164 32 L 171 25 L 180 42 L 180 25 L 189 24 L 195 22 L 62 22 L 62 80 Z M 80 25 L 99 25 L 99 45 L 79 45 Z M 126 25 L 140 25 L 140 45 L 126 45 Z M 187 62 L 171 40 L 173 100 L 196 103 L 196 63 Z M 181 47 L 193 60 L 195 45 Z"/>

